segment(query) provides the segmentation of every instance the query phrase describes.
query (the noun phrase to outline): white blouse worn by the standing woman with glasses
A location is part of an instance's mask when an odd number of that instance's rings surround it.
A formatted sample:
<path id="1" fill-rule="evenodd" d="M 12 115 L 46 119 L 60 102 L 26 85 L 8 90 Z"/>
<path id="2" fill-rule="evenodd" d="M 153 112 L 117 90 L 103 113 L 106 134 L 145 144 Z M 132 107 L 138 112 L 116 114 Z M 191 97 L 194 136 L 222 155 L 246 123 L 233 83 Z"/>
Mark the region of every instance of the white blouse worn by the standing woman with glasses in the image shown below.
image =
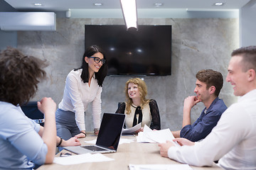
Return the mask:
<path id="1" fill-rule="evenodd" d="M 95 75 L 92 77 L 90 86 L 81 79 L 82 69 L 72 70 L 65 81 L 63 99 L 58 108 L 63 111 L 75 113 L 75 121 L 79 130 L 85 130 L 85 111 L 88 103 L 92 102 L 92 118 L 95 128 L 100 128 L 101 116 L 101 92 L 102 87 L 97 84 Z"/>

